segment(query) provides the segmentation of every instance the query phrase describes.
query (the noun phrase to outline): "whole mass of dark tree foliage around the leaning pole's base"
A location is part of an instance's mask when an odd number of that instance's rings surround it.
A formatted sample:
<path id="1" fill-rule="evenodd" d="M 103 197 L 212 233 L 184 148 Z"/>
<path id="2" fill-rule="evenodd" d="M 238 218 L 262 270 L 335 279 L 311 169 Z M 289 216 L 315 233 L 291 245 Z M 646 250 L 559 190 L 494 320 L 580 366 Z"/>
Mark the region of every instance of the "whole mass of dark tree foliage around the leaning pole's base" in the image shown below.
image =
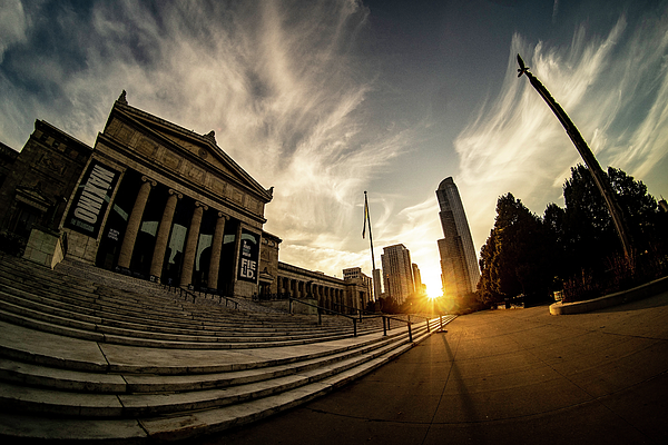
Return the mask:
<path id="1" fill-rule="evenodd" d="M 646 257 L 654 251 L 659 258 L 655 263 L 665 267 L 668 214 L 659 210 L 641 181 L 622 170 L 610 167 L 607 179 L 617 192 L 635 251 Z M 569 277 L 606 280 L 610 277 L 605 274 L 619 268 L 621 244 L 587 167 L 571 168 L 563 198 L 566 208 L 550 204 L 542 218 L 512 194 L 499 198 L 494 227 L 480 251 L 478 294 L 482 301 L 520 294 L 537 299 L 561 288 Z"/>

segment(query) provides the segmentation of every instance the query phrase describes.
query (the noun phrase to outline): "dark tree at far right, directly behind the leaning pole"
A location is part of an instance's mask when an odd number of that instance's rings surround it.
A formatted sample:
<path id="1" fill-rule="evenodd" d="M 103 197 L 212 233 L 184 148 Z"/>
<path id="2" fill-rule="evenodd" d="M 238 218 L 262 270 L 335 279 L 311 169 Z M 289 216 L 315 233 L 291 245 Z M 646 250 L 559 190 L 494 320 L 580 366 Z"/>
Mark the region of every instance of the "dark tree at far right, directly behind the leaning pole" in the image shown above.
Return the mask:
<path id="1" fill-rule="evenodd" d="M 633 240 L 630 254 L 622 254 L 612 218 L 584 166 L 571 168 L 571 178 L 563 185 L 566 208 L 550 204 L 543 218 L 559 246 L 556 275 L 576 289 L 569 290 L 576 298 L 628 288 L 660 277 L 666 269 L 668 215 L 659 210 L 641 181 L 622 170 L 609 167 L 605 178 L 628 221 L 628 235 Z M 578 286 L 590 291 L 578 295 Z"/>

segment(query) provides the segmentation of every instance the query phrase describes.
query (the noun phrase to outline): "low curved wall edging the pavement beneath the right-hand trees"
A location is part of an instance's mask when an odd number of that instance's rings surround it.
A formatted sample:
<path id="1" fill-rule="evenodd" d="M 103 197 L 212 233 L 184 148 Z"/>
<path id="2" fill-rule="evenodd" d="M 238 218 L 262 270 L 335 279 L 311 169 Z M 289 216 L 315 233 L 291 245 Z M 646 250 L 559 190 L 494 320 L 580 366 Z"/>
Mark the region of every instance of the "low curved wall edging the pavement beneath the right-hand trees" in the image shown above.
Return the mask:
<path id="1" fill-rule="evenodd" d="M 622 290 L 616 294 L 606 295 L 595 299 L 566 304 L 561 301 L 554 303 L 550 306 L 550 314 L 569 315 L 600 310 L 607 307 L 651 297 L 666 290 L 668 290 L 668 277 L 655 279 L 654 281 L 649 281 L 642 286 L 633 287 L 632 289 Z"/>

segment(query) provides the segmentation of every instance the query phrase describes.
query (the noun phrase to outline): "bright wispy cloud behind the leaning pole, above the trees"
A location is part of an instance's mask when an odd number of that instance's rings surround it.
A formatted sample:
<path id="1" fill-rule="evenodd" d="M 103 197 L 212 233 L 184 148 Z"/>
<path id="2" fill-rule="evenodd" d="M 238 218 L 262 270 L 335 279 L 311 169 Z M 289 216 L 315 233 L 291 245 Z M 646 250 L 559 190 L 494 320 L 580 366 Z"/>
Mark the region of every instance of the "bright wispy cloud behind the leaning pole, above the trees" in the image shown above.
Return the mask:
<path id="1" fill-rule="evenodd" d="M 666 156 L 667 32 L 666 17 L 629 30 L 622 16 L 605 36 L 579 27 L 564 47 L 513 36 L 502 92 L 454 142 L 456 181 L 478 246 L 493 225 L 499 196 L 510 191 L 542 215 L 547 204 L 561 202 L 570 167 L 582 162 L 544 101 L 517 78 L 515 55 L 570 115 L 603 168 L 641 178 Z"/>

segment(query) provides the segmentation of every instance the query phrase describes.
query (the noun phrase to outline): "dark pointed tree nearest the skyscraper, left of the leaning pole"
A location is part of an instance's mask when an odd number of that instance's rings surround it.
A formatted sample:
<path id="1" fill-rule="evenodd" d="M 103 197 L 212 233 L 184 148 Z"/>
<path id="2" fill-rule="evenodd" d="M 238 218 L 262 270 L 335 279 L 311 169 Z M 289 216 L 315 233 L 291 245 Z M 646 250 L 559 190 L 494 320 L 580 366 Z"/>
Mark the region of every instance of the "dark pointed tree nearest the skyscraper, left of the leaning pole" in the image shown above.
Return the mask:
<path id="1" fill-rule="evenodd" d="M 499 198 L 497 219 L 480 253 L 483 303 L 524 295 L 540 299 L 551 284 L 554 245 L 542 220 L 512 194 Z"/>

